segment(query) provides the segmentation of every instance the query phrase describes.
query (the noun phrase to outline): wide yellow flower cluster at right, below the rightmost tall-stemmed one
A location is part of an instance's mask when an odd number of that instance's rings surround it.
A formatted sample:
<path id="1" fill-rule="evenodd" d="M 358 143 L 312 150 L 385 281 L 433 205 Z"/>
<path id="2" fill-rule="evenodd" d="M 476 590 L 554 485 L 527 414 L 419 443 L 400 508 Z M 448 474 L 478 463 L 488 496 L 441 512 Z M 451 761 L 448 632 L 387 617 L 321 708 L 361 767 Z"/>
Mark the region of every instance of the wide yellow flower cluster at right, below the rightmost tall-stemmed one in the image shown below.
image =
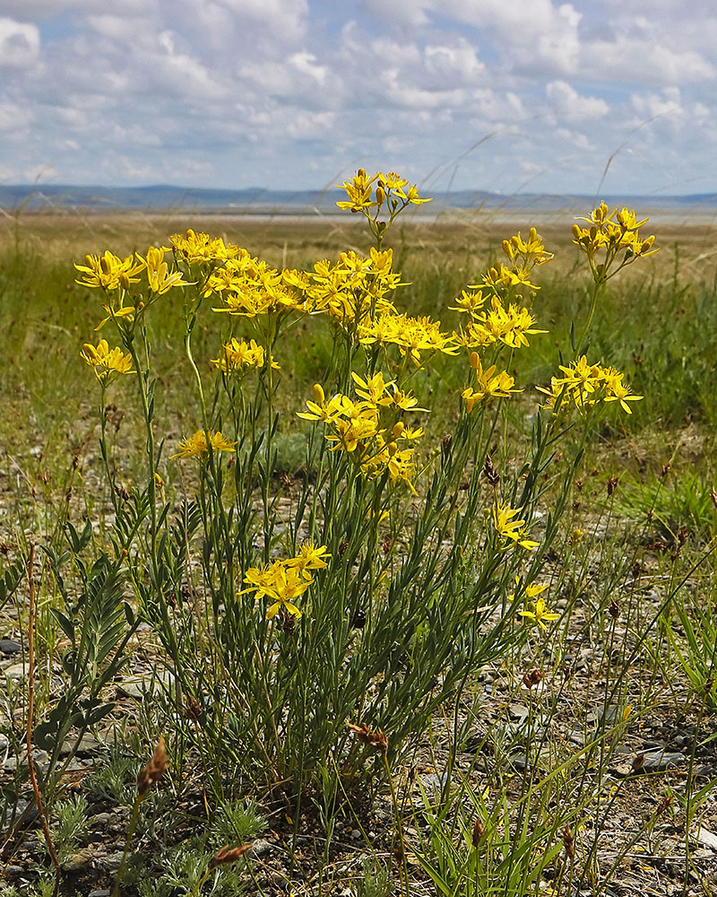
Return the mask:
<path id="1" fill-rule="evenodd" d="M 582 355 L 572 364 L 559 365 L 565 376 L 550 379 L 549 388 L 538 387 L 548 396 L 544 408 L 559 409 L 566 405 L 584 408 L 598 402 L 618 402 L 626 414 L 632 414 L 628 402 L 638 402 L 643 396 L 634 396 L 623 383 L 624 374 L 615 368 L 603 368 L 600 364 L 588 364 Z"/>

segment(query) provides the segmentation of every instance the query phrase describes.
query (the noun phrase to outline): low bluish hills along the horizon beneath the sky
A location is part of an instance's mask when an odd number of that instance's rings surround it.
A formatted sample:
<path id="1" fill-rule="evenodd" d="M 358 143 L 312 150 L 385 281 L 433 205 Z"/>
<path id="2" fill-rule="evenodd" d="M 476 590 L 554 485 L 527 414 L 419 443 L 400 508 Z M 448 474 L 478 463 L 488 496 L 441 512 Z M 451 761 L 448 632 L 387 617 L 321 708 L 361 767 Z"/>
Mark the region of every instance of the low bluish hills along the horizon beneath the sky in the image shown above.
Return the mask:
<path id="1" fill-rule="evenodd" d="M 428 191 L 429 195 L 430 192 Z M 421 206 L 432 216 L 449 210 L 534 210 L 540 212 L 573 211 L 590 207 L 595 196 L 566 196 L 519 193 L 502 196 L 481 190 L 460 190 L 434 193 L 430 206 Z M 243 190 L 203 189 L 159 184 L 151 187 L 78 187 L 72 184 L 13 184 L 0 186 L 0 208 L 5 212 L 39 212 L 53 210 L 166 211 L 187 210 L 205 213 L 237 214 L 333 214 L 339 213 L 336 200 L 339 190 L 264 190 L 249 187 Z M 691 196 L 600 196 L 609 205 L 638 208 L 645 211 L 687 210 L 717 212 L 717 194 Z"/>

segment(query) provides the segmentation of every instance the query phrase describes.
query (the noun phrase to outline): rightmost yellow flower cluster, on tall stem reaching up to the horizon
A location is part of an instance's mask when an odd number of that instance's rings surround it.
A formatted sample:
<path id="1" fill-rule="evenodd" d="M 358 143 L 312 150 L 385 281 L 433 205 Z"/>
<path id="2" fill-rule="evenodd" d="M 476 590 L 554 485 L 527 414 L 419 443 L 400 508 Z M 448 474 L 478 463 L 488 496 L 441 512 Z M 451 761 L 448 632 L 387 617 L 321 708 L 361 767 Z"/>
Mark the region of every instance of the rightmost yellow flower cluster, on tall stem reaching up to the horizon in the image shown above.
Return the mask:
<path id="1" fill-rule="evenodd" d="M 652 248 L 654 235 L 642 239 L 639 234 L 639 229 L 649 220 L 644 218 L 638 222 L 633 210 L 610 211 L 609 205 L 602 202 L 580 219 L 588 222 L 588 227 L 573 225 L 573 242 L 587 256 L 597 283 L 609 280 L 635 258 L 652 256 L 658 251 Z"/>

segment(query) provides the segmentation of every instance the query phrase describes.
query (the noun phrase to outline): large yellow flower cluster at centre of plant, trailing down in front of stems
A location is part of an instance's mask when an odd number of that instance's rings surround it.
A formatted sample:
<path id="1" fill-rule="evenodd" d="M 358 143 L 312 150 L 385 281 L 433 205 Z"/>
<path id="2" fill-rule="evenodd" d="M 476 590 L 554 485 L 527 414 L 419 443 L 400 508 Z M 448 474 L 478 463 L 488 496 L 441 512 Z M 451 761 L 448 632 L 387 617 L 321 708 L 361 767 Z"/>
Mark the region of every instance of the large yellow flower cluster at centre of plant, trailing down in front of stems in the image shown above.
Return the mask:
<path id="1" fill-rule="evenodd" d="M 418 440 L 423 436 L 423 430 L 407 427 L 396 418 L 404 411 L 426 409 L 419 408 L 413 394 L 397 388 L 393 380 L 385 382 L 380 371 L 366 379 L 353 372 L 351 376 L 360 401 L 341 393 L 327 401 L 324 389 L 316 383 L 315 401 L 308 401 L 308 411 L 299 413 L 298 417 L 323 422 L 329 428 L 324 434 L 326 440 L 334 443 L 332 451 L 342 448 L 355 455 L 361 473 L 369 479 L 387 472 L 392 483 L 406 483 L 415 495 L 416 490 L 410 482 L 415 472 L 415 449 L 401 446 Z"/>

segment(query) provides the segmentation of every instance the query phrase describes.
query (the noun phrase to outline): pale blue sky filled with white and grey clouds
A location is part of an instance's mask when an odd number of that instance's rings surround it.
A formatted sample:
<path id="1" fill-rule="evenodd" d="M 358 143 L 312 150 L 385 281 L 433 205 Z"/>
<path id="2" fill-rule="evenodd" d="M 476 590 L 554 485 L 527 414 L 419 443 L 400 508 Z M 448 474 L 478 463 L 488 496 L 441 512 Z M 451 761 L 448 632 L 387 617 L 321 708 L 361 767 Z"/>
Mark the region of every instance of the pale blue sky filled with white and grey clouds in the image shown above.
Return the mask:
<path id="1" fill-rule="evenodd" d="M 0 183 L 717 192 L 714 0 L 0 0 Z"/>

